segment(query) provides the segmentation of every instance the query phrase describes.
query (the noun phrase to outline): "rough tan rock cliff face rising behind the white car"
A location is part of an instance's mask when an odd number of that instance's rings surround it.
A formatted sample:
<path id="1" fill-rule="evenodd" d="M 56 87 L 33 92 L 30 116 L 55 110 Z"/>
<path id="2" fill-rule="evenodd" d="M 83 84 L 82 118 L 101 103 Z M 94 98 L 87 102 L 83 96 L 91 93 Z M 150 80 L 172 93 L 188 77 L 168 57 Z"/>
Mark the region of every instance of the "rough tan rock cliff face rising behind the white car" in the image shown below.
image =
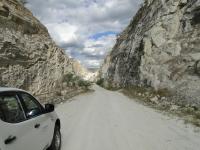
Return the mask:
<path id="1" fill-rule="evenodd" d="M 77 63 L 22 3 L 0 0 L 0 86 L 54 93 L 65 74 L 81 75 Z"/>

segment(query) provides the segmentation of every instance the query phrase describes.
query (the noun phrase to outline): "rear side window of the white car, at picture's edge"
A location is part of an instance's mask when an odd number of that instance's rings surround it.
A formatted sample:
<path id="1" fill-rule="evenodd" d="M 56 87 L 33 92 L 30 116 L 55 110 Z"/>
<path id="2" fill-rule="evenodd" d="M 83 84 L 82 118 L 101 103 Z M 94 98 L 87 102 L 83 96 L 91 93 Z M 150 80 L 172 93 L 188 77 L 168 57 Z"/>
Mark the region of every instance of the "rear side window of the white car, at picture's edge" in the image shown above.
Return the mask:
<path id="1" fill-rule="evenodd" d="M 0 119 L 8 123 L 26 119 L 16 95 L 0 95 Z"/>

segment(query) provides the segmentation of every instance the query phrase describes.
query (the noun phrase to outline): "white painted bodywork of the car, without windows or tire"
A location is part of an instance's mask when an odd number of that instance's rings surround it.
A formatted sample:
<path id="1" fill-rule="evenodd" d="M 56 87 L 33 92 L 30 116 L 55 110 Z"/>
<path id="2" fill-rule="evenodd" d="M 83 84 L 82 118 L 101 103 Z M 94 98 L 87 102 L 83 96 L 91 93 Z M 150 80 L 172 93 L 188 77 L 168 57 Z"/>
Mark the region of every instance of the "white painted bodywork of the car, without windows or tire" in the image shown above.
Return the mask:
<path id="1" fill-rule="evenodd" d="M 9 92 L 9 89 L 0 88 L 0 93 Z M 19 89 L 11 91 L 28 93 Z M 0 120 L 0 150 L 44 150 L 52 142 L 57 119 L 58 116 L 54 111 L 20 123 L 7 123 Z M 40 125 L 39 128 L 35 128 L 36 124 Z M 16 140 L 6 145 L 4 142 L 9 136 L 16 136 Z"/>

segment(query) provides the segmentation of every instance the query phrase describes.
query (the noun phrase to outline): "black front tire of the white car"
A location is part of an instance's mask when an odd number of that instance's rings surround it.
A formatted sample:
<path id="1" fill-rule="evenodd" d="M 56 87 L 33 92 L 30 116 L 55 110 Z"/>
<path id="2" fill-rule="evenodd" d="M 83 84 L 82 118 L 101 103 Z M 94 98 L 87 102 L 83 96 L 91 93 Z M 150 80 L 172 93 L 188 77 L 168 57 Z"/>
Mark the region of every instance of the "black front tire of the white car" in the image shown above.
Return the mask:
<path id="1" fill-rule="evenodd" d="M 61 133 L 59 126 L 55 126 L 53 140 L 48 150 L 60 150 L 62 144 Z"/>

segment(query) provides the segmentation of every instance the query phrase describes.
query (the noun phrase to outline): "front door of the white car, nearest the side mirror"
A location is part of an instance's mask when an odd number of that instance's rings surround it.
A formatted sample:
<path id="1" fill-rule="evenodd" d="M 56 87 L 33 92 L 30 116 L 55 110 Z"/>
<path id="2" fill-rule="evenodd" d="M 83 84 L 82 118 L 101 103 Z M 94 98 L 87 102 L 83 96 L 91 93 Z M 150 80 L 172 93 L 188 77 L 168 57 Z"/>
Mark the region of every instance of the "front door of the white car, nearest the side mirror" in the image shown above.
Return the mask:
<path id="1" fill-rule="evenodd" d="M 53 118 L 45 113 L 42 105 L 32 95 L 25 92 L 20 92 L 18 95 L 28 119 L 26 122 L 33 127 L 32 132 L 36 133 L 36 138 L 33 138 L 31 142 L 39 147 L 38 150 L 48 148 L 51 144 L 50 134 L 53 133 Z"/>

